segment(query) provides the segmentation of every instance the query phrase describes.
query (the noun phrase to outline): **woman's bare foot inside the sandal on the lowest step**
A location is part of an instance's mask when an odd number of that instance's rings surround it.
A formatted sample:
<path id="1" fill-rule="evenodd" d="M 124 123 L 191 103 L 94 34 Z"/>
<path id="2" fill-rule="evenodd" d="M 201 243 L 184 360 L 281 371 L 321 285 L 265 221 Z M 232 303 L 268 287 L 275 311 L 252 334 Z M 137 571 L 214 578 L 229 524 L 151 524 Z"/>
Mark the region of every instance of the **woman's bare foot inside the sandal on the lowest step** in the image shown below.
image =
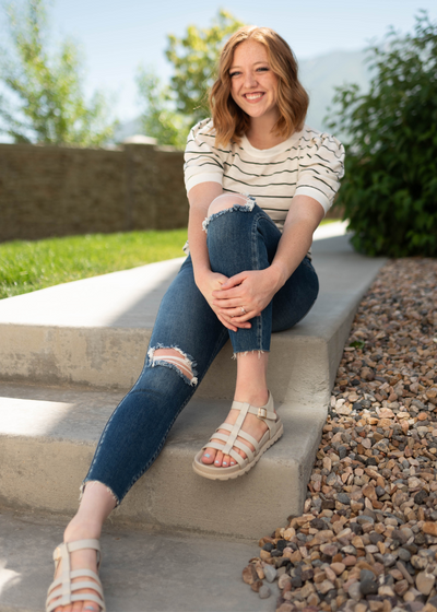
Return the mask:
<path id="1" fill-rule="evenodd" d="M 67 527 L 63 541 L 64 542 L 75 542 L 78 540 L 98 540 L 101 537 L 102 528 L 99 525 L 95 523 L 84 523 L 78 520 L 78 517 L 74 517 L 70 525 Z M 97 572 L 97 552 L 92 549 L 83 549 L 80 551 L 75 551 L 70 553 L 70 565 L 71 570 L 74 569 L 91 569 L 95 574 Z M 62 562 L 59 563 L 55 579 L 60 577 L 62 570 Z M 95 580 L 91 577 L 79 577 L 73 578 L 72 582 L 82 582 L 82 581 L 91 581 L 95 582 Z M 74 603 L 70 603 L 68 605 L 58 605 L 55 608 L 54 612 L 101 612 L 101 607 L 95 601 L 91 601 L 86 599 L 86 593 L 98 595 L 93 589 L 80 589 L 74 591 L 74 595 L 84 595 L 83 601 L 75 601 Z"/>

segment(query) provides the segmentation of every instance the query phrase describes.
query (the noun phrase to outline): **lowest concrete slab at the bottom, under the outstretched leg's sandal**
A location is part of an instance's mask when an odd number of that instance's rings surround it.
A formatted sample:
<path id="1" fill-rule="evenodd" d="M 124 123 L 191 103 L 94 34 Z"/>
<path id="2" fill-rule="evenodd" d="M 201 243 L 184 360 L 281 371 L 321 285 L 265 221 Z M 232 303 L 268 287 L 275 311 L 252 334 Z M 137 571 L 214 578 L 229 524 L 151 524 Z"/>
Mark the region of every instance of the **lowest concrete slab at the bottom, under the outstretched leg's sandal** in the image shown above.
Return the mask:
<path id="1" fill-rule="evenodd" d="M 0 610 L 42 612 L 64 520 L 0 513 Z M 271 612 L 241 580 L 255 542 L 160 533 L 107 523 L 101 577 L 108 612 Z"/>

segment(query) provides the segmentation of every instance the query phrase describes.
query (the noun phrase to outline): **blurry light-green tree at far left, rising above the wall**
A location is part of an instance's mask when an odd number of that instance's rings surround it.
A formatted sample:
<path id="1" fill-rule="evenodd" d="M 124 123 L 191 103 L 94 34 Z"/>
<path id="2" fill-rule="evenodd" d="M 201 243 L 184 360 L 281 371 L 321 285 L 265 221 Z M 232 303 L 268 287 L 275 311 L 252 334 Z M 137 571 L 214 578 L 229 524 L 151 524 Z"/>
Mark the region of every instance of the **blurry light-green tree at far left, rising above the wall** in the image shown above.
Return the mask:
<path id="1" fill-rule="evenodd" d="M 0 47 L 0 80 L 7 87 L 0 101 L 0 131 L 15 142 L 101 145 L 114 133 L 109 104 L 96 92 L 86 103 L 83 61 L 67 39 L 50 50 L 44 0 L 7 8 L 11 45 Z"/>

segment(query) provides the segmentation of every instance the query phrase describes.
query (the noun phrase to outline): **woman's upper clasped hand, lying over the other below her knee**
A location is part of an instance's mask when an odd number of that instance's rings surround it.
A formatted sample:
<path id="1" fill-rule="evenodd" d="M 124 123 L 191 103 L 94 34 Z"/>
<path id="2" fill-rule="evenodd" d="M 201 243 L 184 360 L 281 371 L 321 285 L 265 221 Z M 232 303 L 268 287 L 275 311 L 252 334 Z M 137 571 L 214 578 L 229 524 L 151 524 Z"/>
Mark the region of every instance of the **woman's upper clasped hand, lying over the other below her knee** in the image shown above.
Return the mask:
<path id="1" fill-rule="evenodd" d="M 241 325 L 259 317 L 281 286 L 279 274 L 271 267 L 240 272 L 221 283 L 221 287 L 213 292 L 211 307 L 220 316 L 232 319 L 235 325 Z M 246 311 L 243 313 L 241 308 Z"/>

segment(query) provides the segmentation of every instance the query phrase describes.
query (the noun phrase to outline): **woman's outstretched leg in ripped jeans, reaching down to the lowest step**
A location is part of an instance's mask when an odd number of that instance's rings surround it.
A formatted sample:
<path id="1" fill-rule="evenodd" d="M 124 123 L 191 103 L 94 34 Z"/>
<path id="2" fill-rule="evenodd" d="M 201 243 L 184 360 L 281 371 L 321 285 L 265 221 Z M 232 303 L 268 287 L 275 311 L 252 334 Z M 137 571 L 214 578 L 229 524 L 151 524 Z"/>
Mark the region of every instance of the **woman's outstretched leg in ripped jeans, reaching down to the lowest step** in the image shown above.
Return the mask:
<path id="1" fill-rule="evenodd" d="M 104 520 L 156 459 L 175 419 L 227 338 L 197 289 L 187 258 L 161 304 L 144 368 L 102 434 L 66 542 L 98 539 Z M 71 564 L 96 572 L 96 553 L 76 551 Z M 86 608 L 98 611 L 95 602 L 85 601 L 58 607 L 56 612 Z"/>

